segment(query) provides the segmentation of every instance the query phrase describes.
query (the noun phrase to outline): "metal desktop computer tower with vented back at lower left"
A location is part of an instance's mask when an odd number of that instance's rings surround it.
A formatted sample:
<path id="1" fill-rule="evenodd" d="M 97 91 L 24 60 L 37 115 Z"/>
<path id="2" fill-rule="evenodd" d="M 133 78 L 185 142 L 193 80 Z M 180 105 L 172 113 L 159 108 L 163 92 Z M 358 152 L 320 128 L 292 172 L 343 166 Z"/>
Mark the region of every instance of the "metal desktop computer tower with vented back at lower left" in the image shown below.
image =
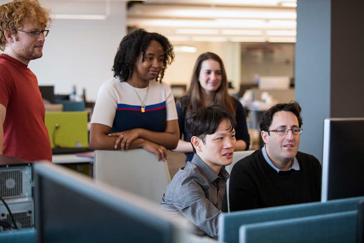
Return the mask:
<path id="1" fill-rule="evenodd" d="M 19 229 L 34 227 L 32 166 L 27 161 L 0 155 L 0 196 L 7 203 Z M 0 220 L 13 226 L 8 209 L 0 200 Z M 0 231 L 5 229 L 0 226 Z"/>

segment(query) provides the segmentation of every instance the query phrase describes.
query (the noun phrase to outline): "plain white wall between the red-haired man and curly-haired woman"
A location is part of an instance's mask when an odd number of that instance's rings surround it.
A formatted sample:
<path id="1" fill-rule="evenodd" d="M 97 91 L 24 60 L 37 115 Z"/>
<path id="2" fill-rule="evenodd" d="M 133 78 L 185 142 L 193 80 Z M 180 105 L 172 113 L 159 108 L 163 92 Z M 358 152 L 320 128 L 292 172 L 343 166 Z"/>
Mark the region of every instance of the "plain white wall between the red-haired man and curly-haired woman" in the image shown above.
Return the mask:
<path id="1" fill-rule="evenodd" d="M 8 1 L 0 0 L 0 4 Z M 50 1 L 42 5 L 58 14 L 107 14 L 105 1 Z M 86 88 L 88 101 L 95 101 L 103 82 L 112 78 L 118 45 L 126 34 L 126 1 L 111 1 L 106 20 L 54 19 L 43 48 L 43 57 L 29 68 L 39 85 L 54 85 L 55 93 L 69 94 L 76 86 Z"/>

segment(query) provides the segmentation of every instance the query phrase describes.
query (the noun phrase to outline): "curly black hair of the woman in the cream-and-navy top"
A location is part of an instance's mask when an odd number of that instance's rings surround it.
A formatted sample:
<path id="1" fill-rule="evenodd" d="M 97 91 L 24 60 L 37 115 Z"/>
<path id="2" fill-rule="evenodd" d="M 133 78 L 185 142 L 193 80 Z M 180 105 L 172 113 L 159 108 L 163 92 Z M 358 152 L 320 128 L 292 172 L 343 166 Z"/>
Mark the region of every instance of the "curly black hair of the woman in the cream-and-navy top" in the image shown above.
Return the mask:
<path id="1" fill-rule="evenodd" d="M 163 68 L 155 78 L 155 81 L 162 82 L 167 64 L 171 64 L 174 60 L 173 46 L 165 36 L 139 28 L 121 40 L 112 67 L 114 77 L 118 77 L 120 82 L 126 82 L 131 78 L 138 55 L 142 52 L 142 62 L 144 62 L 145 50 L 152 40 L 161 43 L 164 51 Z"/>

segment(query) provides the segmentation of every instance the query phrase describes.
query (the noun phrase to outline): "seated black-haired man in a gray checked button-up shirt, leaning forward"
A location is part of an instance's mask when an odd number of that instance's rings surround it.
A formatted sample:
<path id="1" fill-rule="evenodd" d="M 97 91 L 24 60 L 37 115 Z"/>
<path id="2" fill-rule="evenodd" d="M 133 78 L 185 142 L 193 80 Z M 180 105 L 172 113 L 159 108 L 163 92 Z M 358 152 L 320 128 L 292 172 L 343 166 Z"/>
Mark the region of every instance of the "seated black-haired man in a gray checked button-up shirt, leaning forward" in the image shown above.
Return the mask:
<path id="1" fill-rule="evenodd" d="M 195 154 L 173 177 L 161 202 L 163 210 L 182 214 L 199 233 L 213 238 L 217 238 L 217 219 L 230 177 L 222 166 L 233 161 L 235 126 L 233 115 L 219 105 L 187 114 L 186 127 Z"/>

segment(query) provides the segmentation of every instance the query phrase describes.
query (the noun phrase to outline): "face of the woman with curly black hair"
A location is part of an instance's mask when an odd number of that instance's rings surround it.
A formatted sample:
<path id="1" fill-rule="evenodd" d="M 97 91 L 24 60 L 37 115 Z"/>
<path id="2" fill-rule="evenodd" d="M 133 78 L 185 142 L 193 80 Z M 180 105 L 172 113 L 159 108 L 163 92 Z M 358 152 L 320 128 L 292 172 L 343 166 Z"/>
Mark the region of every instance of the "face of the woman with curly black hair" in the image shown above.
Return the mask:
<path id="1" fill-rule="evenodd" d="M 164 52 L 161 43 L 151 40 L 145 50 L 144 61 L 143 54 L 140 52 L 133 72 L 132 80 L 139 82 L 149 82 L 157 78 L 164 64 Z"/>

